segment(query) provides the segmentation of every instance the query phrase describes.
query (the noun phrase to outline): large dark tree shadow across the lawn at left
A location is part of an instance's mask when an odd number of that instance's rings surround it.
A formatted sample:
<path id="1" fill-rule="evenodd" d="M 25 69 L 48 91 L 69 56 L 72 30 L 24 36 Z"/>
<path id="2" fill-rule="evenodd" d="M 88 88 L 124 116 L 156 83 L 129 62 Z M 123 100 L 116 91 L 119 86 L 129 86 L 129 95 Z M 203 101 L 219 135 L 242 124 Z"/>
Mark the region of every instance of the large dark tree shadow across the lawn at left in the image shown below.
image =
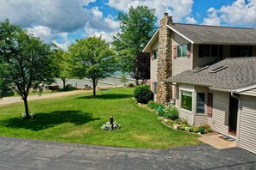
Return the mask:
<path id="1" fill-rule="evenodd" d="M 85 124 L 87 122 L 99 120 L 100 118 L 92 118 L 92 114 L 75 110 L 39 112 L 35 113 L 35 118 L 20 119 L 7 118 L 0 121 L 0 124 L 10 128 L 24 128 L 32 131 L 40 131 L 51 128 L 58 124 L 72 123 L 76 125 Z"/>

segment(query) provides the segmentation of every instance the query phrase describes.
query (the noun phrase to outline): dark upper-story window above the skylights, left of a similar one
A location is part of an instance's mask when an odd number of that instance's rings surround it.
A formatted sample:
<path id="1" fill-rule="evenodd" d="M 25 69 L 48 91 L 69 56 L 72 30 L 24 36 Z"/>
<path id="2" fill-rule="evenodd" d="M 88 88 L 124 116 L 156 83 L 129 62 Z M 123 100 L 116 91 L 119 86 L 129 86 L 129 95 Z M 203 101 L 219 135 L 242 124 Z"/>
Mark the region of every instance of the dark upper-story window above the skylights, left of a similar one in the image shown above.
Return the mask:
<path id="1" fill-rule="evenodd" d="M 203 57 L 219 57 L 223 56 L 222 45 L 199 45 L 199 58 Z"/>

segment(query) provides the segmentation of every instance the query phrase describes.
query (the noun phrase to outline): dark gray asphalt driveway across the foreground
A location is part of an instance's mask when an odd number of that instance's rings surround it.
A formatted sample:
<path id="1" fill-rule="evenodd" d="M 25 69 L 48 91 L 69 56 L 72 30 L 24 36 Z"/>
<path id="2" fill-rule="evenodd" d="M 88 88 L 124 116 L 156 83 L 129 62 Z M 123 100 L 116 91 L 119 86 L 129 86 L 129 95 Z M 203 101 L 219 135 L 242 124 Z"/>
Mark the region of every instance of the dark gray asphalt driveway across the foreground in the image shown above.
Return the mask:
<path id="1" fill-rule="evenodd" d="M 256 169 L 243 149 L 124 149 L 0 137 L 0 169 Z"/>

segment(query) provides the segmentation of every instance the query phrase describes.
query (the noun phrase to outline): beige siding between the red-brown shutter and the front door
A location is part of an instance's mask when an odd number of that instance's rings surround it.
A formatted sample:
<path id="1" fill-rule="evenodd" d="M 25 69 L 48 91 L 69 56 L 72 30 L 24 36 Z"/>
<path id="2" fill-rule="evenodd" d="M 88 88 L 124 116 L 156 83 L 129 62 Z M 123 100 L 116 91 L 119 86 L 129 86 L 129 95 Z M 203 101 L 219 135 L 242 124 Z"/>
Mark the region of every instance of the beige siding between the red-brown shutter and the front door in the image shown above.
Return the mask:
<path id="1" fill-rule="evenodd" d="M 213 92 L 213 111 L 209 124 L 214 131 L 228 136 L 228 110 L 229 94 L 224 92 Z"/>

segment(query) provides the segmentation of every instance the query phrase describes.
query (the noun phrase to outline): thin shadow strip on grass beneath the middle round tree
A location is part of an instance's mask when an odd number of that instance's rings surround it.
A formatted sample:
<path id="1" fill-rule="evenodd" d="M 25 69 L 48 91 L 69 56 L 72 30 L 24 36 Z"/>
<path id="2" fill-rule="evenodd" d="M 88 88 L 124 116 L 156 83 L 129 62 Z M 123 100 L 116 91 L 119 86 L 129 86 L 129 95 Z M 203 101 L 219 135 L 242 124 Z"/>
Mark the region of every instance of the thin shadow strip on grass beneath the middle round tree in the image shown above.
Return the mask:
<path id="1" fill-rule="evenodd" d="M 91 95 L 78 97 L 77 99 L 102 99 L 102 100 L 117 100 L 117 99 L 126 99 L 133 97 L 132 94 L 97 94 L 96 97 Z"/>

